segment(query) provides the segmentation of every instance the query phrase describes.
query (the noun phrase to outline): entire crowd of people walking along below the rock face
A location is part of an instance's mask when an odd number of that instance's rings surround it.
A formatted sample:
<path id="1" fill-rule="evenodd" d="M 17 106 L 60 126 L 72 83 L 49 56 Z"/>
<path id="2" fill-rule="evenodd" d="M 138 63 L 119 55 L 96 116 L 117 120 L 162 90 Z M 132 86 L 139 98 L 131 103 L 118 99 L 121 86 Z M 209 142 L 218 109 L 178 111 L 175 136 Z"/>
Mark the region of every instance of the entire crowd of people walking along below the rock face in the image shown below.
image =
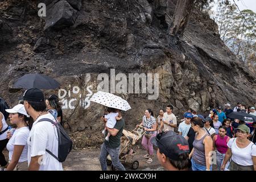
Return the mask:
<path id="1" fill-rule="evenodd" d="M 146 109 L 141 123 L 144 135 L 142 146 L 146 163 L 153 161 L 154 146 L 159 163 L 167 170 L 211 171 L 213 164 L 217 170 L 256 170 L 256 122 L 229 118 L 232 112 L 256 115 L 255 107 L 237 103 L 234 109 L 230 104 L 210 110 L 209 114 L 198 114 L 189 109 L 184 118 L 177 122 L 172 113 L 174 107 L 168 105 L 160 109 L 154 117 L 151 109 Z M 6 123 L 9 113 L 10 129 Z M 107 170 L 107 157 L 118 170 L 125 167 L 119 160 L 121 137 L 125 120 L 120 110 L 108 108 L 102 116 L 105 136 L 101 145 L 100 164 Z M 11 109 L 0 112 L 0 164 L 2 170 L 63 170 L 56 159 L 59 140 L 57 129 L 51 120 L 63 125 L 61 103 L 56 95 L 46 100 L 41 90 L 33 88 L 24 92 L 22 101 Z M 9 151 L 6 161 L 2 151 Z"/>

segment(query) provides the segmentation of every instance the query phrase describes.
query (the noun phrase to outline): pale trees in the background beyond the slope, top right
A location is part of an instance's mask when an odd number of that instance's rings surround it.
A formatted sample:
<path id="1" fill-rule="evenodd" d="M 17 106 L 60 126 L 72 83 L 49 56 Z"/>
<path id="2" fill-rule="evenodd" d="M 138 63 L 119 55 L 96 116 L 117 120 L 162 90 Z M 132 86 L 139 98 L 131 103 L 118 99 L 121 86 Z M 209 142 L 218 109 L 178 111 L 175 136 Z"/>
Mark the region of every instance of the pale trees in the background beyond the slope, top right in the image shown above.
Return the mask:
<path id="1" fill-rule="evenodd" d="M 252 10 L 240 13 L 234 4 L 219 3 L 213 19 L 226 46 L 246 65 L 255 68 L 256 13 Z"/>

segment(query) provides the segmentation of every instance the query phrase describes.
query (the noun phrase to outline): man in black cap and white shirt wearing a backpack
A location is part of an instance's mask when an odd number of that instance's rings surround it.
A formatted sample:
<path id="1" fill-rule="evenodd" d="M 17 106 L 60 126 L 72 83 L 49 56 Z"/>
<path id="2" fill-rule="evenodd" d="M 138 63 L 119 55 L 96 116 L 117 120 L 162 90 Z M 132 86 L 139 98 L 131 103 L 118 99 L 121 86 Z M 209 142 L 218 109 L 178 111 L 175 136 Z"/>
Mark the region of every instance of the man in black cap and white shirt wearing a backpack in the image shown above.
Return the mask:
<path id="1" fill-rule="evenodd" d="M 62 163 L 46 152 L 51 151 L 58 156 L 58 134 L 55 125 L 40 119 L 48 118 L 56 122 L 52 114 L 46 111 L 44 94 L 37 88 L 28 89 L 23 94 L 24 107 L 27 113 L 34 119 L 28 144 L 28 170 L 31 171 L 63 171 Z"/>

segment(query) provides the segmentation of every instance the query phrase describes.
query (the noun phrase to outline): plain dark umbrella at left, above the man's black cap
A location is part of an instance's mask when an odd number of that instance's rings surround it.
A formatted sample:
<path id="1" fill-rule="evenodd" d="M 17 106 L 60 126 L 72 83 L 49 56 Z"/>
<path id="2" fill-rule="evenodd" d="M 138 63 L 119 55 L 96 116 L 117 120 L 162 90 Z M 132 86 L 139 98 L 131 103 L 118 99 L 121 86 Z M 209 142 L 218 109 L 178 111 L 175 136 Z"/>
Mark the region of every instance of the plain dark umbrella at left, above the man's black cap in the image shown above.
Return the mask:
<path id="1" fill-rule="evenodd" d="M 14 84 L 14 88 L 24 89 L 56 89 L 59 86 L 59 82 L 57 82 L 53 78 L 38 73 L 24 75 L 20 77 L 18 81 L 16 81 Z"/>

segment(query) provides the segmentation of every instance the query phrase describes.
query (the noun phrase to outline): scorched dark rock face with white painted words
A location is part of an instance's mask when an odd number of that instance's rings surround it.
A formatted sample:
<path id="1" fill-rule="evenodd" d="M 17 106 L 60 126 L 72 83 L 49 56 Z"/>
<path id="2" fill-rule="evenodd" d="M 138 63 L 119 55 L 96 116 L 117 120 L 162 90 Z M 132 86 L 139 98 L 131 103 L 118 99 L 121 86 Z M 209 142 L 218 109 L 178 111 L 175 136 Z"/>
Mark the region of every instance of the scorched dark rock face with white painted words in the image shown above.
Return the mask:
<path id="1" fill-rule="evenodd" d="M 122 88 L 123 92 L 116 93 L 131 105 L 123 113 L 127 129 L 141 122 L 147 108 L 158 113 L 172 104 L 174 113 L 182 116 L 189 107 L 205 112 L 226 102 L 255 105 L 255 76 L 223 44 L 213 20 L 200 11 L 193 11 L 183 38 L 177 40 L 167 35 L 153 2 L 44 2 L 49 10 L 44 19 L 38 16 L 35 2 L 0 3 L 0 96 L 10 106 L 23 92 L 11 88 L 13 82 L 32 72 L 60 82 L 59 89 L 45 93 L 59 96 L 65 127 L 71 131 L 102 130 L 103 107 L 89 99 L 103 85 L 104 77 L 108 80 L 105 88 Z M 171 17 L 176 1 L 168 3 L 166 11 Z M 149 6 L 145 9 L 144 5 Z M 15 11 L 14 17 L 15 8 L 23 11 Z M 167 15 L 165 21 L 170 25 Z M 129 93 L 129 74 L 151 81 L 151 88 L 134 83 Z M 154 74 L 158 74 L 156 84 Z M 154 90 L 156 85 L 158 90 Z"/>

